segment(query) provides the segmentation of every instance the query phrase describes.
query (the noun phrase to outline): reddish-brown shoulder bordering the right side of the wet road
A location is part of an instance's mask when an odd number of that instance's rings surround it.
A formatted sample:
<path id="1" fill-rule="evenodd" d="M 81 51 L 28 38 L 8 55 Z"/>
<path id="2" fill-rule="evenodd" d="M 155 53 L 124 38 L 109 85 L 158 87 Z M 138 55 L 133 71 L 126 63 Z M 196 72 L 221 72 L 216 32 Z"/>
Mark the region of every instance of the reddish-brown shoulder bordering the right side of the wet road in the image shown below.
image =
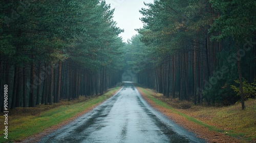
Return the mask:
<path id="1" fill-rule="evenodd" d="M 143 99 L 147 103 L 149 103 L 152 107 L 156 108 L 158 111 L 165 114 L 168 118 L 170 118 L 170 120 L 179 124 L 181 127 L 195 133 L 199 138 L 203 138 L 207 140 L 207 142 L 247 142 L 246 140 L 231 137 L 221 132 L 209 130 L 207 127 L 201 126 L 200 124 L 197 123 L 201 121 L 198 121 L 193 117 L 190 117 L 185 112 L 180 112 L 168 106 L 167 103 L 150 95 L 148 91 L 145 91 L 146 89 L 141 87 L 136 87 L 136 88 L 140 92 Z"/>

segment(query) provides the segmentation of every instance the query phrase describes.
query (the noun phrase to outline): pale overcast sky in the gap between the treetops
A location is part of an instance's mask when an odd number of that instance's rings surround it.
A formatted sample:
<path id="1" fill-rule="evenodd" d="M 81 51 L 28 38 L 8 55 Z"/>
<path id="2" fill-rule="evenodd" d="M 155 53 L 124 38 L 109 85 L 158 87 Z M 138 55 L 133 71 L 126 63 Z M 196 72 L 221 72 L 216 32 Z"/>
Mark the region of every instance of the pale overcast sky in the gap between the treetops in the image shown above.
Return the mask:
<path id="1" fill-rule="evenodd" d="M 154 0 L 105 0 L 106 4 L 111 4 L 111 8 L 115 8 L 114 20 L 117 22 L 117 27 L 124 29 L 124 32 L 119 36 L 123 38 L 123 41 L 127 41 L 133 35 L 137 34 L 134 29 L 143 27 L 143 23 L 140 21 L 139 10 L 143 7 L 143 4 L 153 3 Z"/>

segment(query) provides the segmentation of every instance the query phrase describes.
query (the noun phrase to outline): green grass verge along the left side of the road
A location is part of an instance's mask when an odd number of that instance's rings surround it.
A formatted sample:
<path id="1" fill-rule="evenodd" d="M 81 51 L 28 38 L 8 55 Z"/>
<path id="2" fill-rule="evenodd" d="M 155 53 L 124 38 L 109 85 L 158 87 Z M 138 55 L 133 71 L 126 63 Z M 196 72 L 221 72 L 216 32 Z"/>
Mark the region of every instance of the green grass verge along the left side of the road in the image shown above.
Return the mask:
<path id="1" fill-rule="evenodd" d="M 60 106 L 52 106 L 54 108 L 42 111 L 41 113 L 36 115 L 31 115 L 29 113 L 19 114 L 15 112 L 15 115 L 8 118 L 8 139 L 5 139 L 2 133 L 0 135 L 0 142 L 11 142 L 24 139 L 33 134 L 42 132 L 47 128 L 51 128 L 52 126 L 57 125 L 63 121 L 69 120 L 69 118 L 76 116 L 78 113 L 87 110 L 90 107 L 93 107 L 105 101 L 106 99 L 109 99 L 118 89 L 120 89 L 120 86 L 111 89 L 109 92 L 105 93 L 102 96 L 91 98 L 87 101 L 83 101 L 80 103 L 70 104 L 70 102 L 65 101 L 61 103 L 62 105 Z M 44 108 L 47 106 L 40 107 Z M 38 110 L 37 108 L 38 107 L 29 108 L 28 110 Z M 21 110 L 23 109 L 20 109 L 20 111 Z M 1 117 L 0 120 L 1 124 L 3 124 L 4 118 Z M 2 127 L 1 129 L 3 129 Z"/>

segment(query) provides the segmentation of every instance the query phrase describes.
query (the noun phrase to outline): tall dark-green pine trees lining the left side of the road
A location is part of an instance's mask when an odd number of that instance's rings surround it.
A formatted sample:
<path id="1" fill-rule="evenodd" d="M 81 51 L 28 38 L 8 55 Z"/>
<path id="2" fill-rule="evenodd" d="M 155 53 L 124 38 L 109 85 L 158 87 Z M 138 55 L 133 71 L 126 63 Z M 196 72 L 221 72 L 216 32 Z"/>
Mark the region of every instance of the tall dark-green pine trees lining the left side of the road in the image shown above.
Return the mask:
<path id="1" fill-rule="evenodd" d="M 1 1 L 0 8 L 0 79 L 13 86 L 12 108 L 93 96 L 121 81 L 123 30 L 105 1 Z"/>

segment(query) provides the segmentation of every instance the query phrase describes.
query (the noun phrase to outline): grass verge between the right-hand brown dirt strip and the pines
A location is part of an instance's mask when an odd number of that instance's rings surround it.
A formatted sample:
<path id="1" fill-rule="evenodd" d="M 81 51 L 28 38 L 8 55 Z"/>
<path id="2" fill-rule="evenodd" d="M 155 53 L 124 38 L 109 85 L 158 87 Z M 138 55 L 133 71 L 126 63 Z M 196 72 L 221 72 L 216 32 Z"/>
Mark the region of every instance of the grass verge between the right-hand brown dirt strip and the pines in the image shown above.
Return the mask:
<path id="1" fill-rule="evenodd" d="M 172 101 L 171 99 L 166 99 L 161 94 L 151 89 L 138 88 L 144 93 L 146 98 L 150 99 L 158 106 L 169 109 L 173 113 L 185 117 L 190 122 L 206 127 L 209 131 L 224 133 L 248 141 L 255 140 L 256 138 L 255 99 L 246 101 L 246 110 L 244 111 L 241 110 L 240 104 L 228 107 L 203 107 L 192 105 L 190 108 L 181 109 L 180 106 L 177 105 L 176 100 Z M 172 105 L 177 106 L 172 107 Z"/>

